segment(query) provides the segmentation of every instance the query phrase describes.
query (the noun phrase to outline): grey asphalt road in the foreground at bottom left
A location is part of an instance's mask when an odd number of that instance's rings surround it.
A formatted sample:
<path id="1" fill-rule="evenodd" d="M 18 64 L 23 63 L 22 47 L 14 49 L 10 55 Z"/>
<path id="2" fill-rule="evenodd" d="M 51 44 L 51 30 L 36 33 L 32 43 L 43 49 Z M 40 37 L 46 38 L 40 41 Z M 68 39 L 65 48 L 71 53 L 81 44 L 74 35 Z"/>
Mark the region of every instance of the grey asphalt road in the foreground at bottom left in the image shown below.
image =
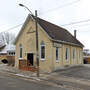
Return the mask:
<path id="1" fill-rule="evenodd" d="M 0 72 L 0 90 L 67 90 Z"/>

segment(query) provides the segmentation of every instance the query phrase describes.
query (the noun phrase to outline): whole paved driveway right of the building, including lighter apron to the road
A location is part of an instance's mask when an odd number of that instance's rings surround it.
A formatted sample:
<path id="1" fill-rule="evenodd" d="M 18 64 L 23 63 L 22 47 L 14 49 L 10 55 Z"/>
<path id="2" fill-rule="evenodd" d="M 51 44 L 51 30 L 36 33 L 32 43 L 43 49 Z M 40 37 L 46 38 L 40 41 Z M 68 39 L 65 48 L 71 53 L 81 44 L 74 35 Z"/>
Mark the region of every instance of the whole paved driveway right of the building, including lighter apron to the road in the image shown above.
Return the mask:
<path id="1" fill-rule="evenodd" d="M 51 73 L 48 80 L 70 90 L 90 90 L 90 65 L 58 70 Z"/>

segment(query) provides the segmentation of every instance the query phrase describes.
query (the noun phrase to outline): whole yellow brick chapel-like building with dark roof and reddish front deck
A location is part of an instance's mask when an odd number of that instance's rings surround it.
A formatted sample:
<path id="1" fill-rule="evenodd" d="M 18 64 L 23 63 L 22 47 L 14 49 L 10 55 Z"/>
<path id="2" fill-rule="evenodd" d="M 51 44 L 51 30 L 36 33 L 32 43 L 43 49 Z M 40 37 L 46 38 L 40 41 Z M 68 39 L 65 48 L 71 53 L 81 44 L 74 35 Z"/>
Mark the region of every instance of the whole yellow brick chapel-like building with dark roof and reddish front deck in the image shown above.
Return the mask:
<path id="1" fill-rule="evenodd" d="M 52 72 L 67 65 L 83 64 L 83 44 L 66 29 L 37 18 L 39 68 Z M 37 69 L 35 19 L 28 15 L 16 40 L 15 66 Z"/>

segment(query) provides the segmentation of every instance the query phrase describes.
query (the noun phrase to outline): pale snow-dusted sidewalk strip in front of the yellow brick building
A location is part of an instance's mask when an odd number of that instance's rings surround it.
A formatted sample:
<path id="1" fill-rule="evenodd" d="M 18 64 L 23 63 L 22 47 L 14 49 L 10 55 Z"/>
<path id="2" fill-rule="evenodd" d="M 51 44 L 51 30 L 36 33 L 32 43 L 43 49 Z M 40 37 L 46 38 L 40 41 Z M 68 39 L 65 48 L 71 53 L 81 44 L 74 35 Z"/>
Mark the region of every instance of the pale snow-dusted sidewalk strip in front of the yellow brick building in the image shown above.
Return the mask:
<path id="1" fill-rule="evenodd" d="M 5 71 L 8 73 L 12 73 L 14 75 L 17 75 L 17 76 L 26 77 L 26 78 L 33 78 L 33 79 L 37 79 L 37 80 L 47 79 L 47 77 L 49 76 L 48 74 L 40 74 L 40 77 L 37 77 L 36 72 L 22 71 L 22 70 L 15 68 L 15 67 L 8 66 L 7 64 L 0 64 L 0 71 Z"/>

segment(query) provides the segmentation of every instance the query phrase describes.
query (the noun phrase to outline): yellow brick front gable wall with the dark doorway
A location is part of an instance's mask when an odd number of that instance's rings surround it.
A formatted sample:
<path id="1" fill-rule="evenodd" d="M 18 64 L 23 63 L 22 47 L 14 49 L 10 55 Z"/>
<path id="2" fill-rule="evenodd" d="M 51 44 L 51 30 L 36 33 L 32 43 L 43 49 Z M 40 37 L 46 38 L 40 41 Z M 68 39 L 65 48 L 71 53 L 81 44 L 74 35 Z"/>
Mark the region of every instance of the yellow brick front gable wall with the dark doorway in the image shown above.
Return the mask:
<path id="1" fill-rule="evenodd" d="M 45 34 L 41 27 L 38 27 L 38 38 L 39 38 L 39 56 L 40 56 L 40 43 L 44 41 L 45 43 L 45 60 L 40 60 L 40 70 L 51 71 L 52 69 L 52 42 L 49 40 L 47 34 Z M 35 23 L 32 20 L 26 25 L 22 34 L 20 35 L 16 43 L 16 56 L 15 56 L 15 66 L 18 67 L 19 60 L 19 45 L 22 44 L 23 47 L 23 59 L 27 59 L 27 53 L 34 53 L 34 65 L 36 66 L 36 36 Z"/>

